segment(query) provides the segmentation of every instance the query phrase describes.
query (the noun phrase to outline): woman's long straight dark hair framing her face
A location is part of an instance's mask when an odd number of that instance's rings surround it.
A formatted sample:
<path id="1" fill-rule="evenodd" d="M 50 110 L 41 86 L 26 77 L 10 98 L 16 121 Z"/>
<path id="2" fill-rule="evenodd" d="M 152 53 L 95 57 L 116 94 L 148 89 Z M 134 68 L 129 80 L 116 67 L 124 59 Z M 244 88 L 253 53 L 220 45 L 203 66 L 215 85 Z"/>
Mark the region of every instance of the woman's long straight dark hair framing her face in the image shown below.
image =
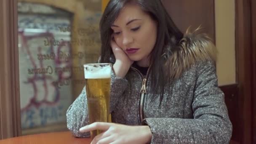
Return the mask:
<path id="1" fill-rule="evenodd" d="M 164 67 L 165 61 L 162 59 L 166 48 L 174 48 L 183 37 L 183 33 L 176 27 L 171 17 L 165 10 L 161 0 L 110 0 L 100 21 L 100 33 L 101 33 L 101 63 L 110 62 L 109 59 L 113 56 L 113 52 L 110 46 L 111 35 L 113 30 L 111 25 L 117 19 L 120 11 L 125 4 L 135 3 L 141 7 L 141 9 L 148 13 L 149 16 L 157 21 L 157 40 L 155 47 L 151 53 L 150 64 L 151 73 L 151 91 L 157 93 L 156 89 L 160 90 L 161 100 L 163 99 L 163 93 L 165 84 L 168 82 L 168 72 L 170 68 Z"/>

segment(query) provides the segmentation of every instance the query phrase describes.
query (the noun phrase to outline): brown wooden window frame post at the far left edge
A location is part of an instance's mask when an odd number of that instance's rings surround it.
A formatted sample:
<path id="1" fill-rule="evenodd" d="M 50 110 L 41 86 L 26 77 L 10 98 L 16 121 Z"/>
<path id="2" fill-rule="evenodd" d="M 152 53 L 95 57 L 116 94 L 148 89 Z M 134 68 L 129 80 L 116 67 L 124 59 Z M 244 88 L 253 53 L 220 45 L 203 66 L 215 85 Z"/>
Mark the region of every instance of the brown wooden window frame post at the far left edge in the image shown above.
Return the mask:
<path id="1" fill-rule="evenodd" d="M 17 0 L 0 1 L 0 139 L 21 135 Z"/>

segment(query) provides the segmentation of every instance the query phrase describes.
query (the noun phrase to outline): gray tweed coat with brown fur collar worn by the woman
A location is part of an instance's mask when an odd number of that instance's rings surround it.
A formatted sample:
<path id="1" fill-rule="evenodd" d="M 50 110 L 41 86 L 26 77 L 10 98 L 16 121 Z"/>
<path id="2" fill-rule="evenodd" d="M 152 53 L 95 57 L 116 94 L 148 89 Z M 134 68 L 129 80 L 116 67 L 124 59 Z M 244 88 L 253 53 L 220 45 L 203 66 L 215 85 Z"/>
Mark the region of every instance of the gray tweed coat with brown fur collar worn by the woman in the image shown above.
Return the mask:
<path id="1" fill-rule="evenodd" d="M 150 78 L 144 87 L 146 77 L 137 69 L 131 67 L 125 78 L 112 70 L 112 122 L 149 125 L 151 144 L 228 144 L 232 124 L 218 87 L 214 45 L 204 35 L 187 33 L 179 48 L 167 49 L 165 55 L 172 79 L 161 104 L 159 95 L 149 93 Z M 85 88 L 67 110 L 67 128 L 74 136 L 90 136 L 79 132 L 84 125 L 88 125 Z"/>

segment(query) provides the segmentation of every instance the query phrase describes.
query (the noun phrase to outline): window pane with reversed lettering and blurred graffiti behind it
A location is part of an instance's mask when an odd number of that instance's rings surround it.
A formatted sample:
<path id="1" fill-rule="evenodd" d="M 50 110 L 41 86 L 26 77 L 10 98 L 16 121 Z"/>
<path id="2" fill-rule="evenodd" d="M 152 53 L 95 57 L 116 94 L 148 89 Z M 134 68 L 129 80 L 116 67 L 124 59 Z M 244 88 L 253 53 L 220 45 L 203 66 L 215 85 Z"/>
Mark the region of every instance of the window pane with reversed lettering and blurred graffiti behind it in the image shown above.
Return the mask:
<path id="1" fill-rule="evenodd" d="M 66 131 L 83 64 L 99 57 L 101 0 L 30 1 L 18 3 L 22 134 Z"/>

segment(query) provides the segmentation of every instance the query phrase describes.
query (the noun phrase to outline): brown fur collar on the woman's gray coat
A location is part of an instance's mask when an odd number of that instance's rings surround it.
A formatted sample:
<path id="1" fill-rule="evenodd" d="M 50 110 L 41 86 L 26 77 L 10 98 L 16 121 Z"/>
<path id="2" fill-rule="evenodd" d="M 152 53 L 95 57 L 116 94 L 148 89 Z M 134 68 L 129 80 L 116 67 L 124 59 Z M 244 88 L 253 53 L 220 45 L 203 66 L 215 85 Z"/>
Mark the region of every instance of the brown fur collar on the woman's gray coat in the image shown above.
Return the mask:
<path id="1" fill-rule="evenodd" d="M 200 27 L 194 32 L 187 32 L 176 48 L 167 50 L 167 61 L 170 76 L 173 79 L 180 77 L 185 69 L 200 61 L 216 61 L 216 47 L 206 34 L 199 34 Z"/>

